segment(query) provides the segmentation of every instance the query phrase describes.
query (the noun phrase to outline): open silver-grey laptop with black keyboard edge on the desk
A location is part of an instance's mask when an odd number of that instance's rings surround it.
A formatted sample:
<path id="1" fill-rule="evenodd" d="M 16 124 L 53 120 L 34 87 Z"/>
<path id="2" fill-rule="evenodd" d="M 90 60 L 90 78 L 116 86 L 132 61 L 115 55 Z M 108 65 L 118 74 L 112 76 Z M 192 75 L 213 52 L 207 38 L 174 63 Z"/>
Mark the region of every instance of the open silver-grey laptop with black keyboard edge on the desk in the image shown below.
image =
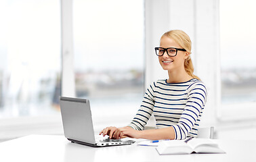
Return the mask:
<path id="1" fill-rule="evenodd" d="M 88 146 L 132 144 L 134 140 L 96 139 L 88 99 L 60 97 L 60 111 L 65 137 L 71 142 Z"/>

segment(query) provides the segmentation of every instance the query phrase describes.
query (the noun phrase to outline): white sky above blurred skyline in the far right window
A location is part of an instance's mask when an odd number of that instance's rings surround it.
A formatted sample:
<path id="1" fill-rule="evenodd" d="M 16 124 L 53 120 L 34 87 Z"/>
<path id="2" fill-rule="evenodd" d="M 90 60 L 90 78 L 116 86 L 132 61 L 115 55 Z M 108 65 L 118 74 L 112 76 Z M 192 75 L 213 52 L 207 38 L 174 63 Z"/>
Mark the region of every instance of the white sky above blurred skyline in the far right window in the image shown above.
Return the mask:
<path id="1" fill-rule="evenodd" d="M 221 68 L 256 68 L 256 1 L 219 4 Z"/>

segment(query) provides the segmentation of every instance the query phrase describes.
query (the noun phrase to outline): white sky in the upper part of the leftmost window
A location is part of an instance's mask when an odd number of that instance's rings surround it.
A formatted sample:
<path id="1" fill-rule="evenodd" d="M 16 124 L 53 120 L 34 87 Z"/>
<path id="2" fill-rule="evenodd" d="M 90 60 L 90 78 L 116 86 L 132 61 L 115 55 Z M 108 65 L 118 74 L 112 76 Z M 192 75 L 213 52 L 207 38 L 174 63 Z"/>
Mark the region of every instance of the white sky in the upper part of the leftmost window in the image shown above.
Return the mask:
<path id="1" fill-rule="evenodd" d="M 60 2 L 14 0 L 0 6 L 0 68 L 27 65 L 35 75 L 60 70 Z"/>

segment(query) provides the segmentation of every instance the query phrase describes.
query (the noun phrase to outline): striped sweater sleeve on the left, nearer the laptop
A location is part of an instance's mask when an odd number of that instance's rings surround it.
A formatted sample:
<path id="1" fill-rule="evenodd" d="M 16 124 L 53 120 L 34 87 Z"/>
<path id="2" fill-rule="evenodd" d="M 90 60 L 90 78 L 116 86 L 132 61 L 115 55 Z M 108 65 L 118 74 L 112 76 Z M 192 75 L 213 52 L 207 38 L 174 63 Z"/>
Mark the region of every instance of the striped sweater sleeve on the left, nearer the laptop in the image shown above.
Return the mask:
<path id="1" fill-rule="evenodd" d="M 153 113 L 154 108 L 154 90 L 153 85 L 146 90 L 144 94 L 144 99 L 142 101 L 142 105 L 140 109 L 137 111 L 135 117 L 128 125 L 135 130 L 144 130 L 144 126 L 147 124 L 148 119 Z"/>

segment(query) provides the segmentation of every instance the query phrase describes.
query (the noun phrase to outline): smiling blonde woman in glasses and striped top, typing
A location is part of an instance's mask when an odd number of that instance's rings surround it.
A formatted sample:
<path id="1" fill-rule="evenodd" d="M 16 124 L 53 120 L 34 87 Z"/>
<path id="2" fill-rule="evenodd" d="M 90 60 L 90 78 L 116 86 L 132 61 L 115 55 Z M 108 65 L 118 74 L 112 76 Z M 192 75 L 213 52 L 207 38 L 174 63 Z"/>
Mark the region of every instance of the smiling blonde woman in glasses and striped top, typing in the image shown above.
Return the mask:
<path id="1" fill-rule="evenodd" d="M 190 38 L 182 30 L 171 30 L 163 34 L 160 47 L 155 47 L 155 51 L 169 78 L 150 85 L 131 124 L 123 128 L 105 128 L 100 132 L 103 136 L 150 140 L 197 136 L 207 90 L 205 84 L 193 74 Z M 144 130 L 152 114 L 156 118 L 156 129 Z"/>

